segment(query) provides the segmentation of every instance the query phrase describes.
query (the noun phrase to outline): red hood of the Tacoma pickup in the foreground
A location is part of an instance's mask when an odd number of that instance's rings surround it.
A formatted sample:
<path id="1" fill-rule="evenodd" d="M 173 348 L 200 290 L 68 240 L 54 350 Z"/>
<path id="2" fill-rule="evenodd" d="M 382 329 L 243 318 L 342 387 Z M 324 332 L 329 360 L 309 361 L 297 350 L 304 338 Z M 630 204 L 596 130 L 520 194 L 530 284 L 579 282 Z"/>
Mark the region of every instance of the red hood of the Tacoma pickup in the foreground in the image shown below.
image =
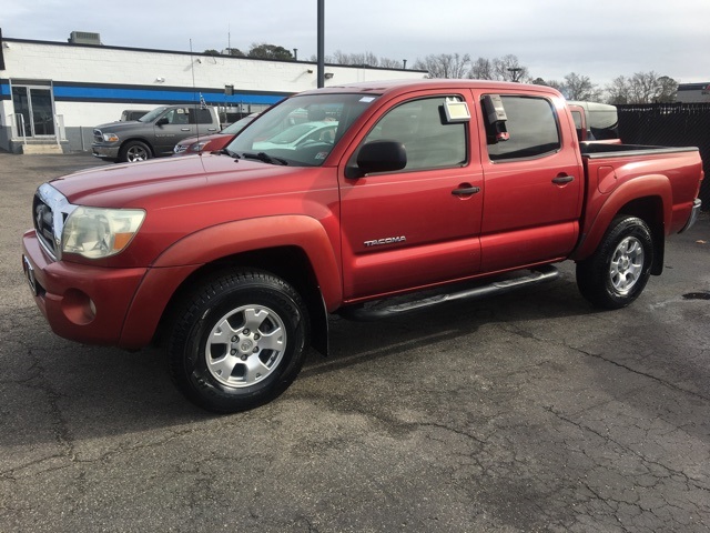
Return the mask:
<path id="1" fill-rule="evenodd" d="M 70 203 L 102 208 L 144 208 L 151 199 L 185 191 L 239 183 L 240 197 L 255 193 L 245 183 L 264 178 L 301 173 L 304 168 L 281 167 L 252 160 L 234 160 L 227 155 L 186 155 L 155 159 L 140 163 L 109 164 L 58 178 L 51 181 Z"/>

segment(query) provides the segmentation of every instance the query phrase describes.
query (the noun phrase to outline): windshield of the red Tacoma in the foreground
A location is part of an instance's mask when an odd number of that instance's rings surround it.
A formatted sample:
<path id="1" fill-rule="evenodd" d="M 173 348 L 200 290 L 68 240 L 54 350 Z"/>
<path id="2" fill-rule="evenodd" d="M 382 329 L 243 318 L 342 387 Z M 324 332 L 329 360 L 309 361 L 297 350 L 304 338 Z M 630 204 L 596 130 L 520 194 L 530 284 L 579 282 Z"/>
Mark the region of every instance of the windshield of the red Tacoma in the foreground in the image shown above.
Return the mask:
<path id="1" fill-rule="evenodd" d="M 376 98 L 371 94 L 305 94 L 286 99 L 255 119 L 226 150 L 265 162 L 320 167 Z"/>

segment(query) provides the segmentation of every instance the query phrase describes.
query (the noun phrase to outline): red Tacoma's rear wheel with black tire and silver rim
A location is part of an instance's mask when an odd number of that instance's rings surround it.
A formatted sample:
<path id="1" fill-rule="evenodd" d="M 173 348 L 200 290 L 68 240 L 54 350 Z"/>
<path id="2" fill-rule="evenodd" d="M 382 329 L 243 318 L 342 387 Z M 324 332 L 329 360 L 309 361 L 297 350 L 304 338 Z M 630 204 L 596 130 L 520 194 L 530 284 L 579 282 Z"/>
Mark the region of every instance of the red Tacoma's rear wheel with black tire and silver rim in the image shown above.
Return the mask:
<path id="1" fill-rule="evenodd" d="M 652 263 L 648 224 L 636 217 L 617 217 L 594 255 L 577 263 L 577 286 L 594 305 L 620 309 L 641 294 Z"/>

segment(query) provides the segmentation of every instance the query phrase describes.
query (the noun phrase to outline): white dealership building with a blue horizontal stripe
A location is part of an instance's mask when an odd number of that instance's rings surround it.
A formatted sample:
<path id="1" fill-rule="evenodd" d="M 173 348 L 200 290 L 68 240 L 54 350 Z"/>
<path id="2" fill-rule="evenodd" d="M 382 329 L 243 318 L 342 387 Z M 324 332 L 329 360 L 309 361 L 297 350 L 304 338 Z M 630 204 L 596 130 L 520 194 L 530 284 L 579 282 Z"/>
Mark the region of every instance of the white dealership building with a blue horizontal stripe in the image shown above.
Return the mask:
<path id="1" fill-rule="evenodd" d="M 93 127 L 119 120 L 126 109 L 202 101 L 231 122 L 317 87 L 317 66 L 308 61 L 110 47 L 83 32 L 72 32 L 65 43 L 1 32 L 0 41 L 0 150 L 11 152 L 38 144 L 90 151 Z M 425 76 L 326 66 L 325 86 Z"/>

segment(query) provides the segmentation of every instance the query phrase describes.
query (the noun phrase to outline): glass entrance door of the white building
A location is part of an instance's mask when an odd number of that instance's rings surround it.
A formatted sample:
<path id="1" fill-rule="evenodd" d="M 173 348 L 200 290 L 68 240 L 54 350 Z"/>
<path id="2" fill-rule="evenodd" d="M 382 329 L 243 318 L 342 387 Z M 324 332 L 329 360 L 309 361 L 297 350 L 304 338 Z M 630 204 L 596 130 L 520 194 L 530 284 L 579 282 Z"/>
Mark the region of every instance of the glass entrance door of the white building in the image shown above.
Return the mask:
<path id="1" fill-rule="evenodd" d="M 24 137 L 54 137 L 51 88 L 12 86 L 12 104 L 19 135 L 24 133 Z"/>

